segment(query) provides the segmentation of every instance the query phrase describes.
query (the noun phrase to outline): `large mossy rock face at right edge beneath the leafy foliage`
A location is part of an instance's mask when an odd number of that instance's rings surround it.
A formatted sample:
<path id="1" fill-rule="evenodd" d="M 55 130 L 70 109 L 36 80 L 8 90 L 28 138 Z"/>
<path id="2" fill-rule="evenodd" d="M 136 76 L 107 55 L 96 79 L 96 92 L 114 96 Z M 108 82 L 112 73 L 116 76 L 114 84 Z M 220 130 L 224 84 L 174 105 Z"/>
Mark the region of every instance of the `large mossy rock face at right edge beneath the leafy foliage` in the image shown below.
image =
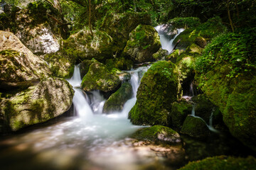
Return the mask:
<path id="1" fill-rule="evenodd" d="M 210 101 L 220 108 L 230 133 L 256 151 L 256 78 L 240 74 L 229 79 L 230 64 L 222 64 L 197 81 Z"/>

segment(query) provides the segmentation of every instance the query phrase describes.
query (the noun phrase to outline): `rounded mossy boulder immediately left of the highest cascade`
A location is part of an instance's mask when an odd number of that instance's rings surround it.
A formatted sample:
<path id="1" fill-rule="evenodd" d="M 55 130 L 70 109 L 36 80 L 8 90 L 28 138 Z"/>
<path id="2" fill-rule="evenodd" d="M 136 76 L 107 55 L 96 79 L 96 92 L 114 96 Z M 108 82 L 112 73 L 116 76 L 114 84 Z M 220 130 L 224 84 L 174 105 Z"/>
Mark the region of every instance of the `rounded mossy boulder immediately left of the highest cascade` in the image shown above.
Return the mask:
<path id="1" fill-rule="evenodd" d="M 156 30 L 152 26 L 139 25 L 129 34 L 123 55 L 131 57 L 135 62 L 151 62 L 155 60 L 153 54 L 160 47 L 161 42 Z"/>

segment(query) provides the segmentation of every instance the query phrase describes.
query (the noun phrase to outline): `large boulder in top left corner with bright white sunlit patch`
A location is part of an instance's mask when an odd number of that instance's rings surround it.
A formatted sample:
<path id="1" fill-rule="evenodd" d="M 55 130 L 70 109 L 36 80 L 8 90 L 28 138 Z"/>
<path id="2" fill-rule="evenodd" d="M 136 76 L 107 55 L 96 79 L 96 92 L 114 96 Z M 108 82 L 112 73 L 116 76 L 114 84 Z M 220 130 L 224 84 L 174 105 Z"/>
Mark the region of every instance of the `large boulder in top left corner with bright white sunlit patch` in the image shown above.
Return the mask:
<path id="1" fill-rule="evenodd" d="M 26 8 L 12 6 L 1 13 L 0 18 L 0 29 L 15 33 L 33 53 L 57 52 L 59 40 L 68 35 L 62 14 L 46 1 L 32 2 Z"/>

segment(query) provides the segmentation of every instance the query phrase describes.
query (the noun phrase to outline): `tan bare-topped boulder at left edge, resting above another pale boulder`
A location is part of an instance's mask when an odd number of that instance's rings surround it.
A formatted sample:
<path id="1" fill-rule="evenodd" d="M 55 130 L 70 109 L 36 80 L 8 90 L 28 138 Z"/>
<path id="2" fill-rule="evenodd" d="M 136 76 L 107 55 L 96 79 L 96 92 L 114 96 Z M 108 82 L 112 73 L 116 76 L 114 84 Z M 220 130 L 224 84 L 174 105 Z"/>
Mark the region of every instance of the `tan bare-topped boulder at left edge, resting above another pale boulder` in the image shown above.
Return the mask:
<path id="1" fill-rule="evenodd" d="M 0 30 L 0 51 L 1 89 L 30 86 L 51 74 L 46 62 L 33 55 L 13 33 Z"/>

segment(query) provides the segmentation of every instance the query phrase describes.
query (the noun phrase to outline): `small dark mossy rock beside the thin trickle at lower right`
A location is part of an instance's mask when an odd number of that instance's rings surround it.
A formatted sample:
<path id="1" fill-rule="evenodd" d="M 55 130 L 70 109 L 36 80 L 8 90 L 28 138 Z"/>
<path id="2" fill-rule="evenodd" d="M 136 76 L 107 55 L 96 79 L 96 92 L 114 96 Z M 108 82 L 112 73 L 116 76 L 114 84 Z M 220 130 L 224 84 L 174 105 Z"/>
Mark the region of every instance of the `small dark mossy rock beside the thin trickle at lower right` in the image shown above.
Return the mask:
<path id="1" fill-rule="evenodd" d="M 182 125 L 181 133 L 200 138 L 210 135 L 210 130 L 203 119 L 188 115 Z"/>

